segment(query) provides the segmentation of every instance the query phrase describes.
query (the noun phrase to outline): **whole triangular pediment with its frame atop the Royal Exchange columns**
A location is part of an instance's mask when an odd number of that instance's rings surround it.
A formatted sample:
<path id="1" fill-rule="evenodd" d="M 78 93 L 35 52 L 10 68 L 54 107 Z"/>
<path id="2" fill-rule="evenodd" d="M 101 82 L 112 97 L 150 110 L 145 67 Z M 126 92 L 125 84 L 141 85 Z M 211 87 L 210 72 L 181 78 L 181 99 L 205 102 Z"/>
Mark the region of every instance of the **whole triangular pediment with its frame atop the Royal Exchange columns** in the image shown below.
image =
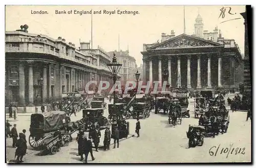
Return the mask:
<path id="1" fill-rule="evenodd" d="M 222 44 L 205 40 L 195 36 L 181 34 L 174 38 L 163 41 L 159 44 L 148 47 L 147 50 L 173 49 L 173 48 L 181 48 L 181 47 L 209 47 L 209 46 L 222 46 Z"/>

